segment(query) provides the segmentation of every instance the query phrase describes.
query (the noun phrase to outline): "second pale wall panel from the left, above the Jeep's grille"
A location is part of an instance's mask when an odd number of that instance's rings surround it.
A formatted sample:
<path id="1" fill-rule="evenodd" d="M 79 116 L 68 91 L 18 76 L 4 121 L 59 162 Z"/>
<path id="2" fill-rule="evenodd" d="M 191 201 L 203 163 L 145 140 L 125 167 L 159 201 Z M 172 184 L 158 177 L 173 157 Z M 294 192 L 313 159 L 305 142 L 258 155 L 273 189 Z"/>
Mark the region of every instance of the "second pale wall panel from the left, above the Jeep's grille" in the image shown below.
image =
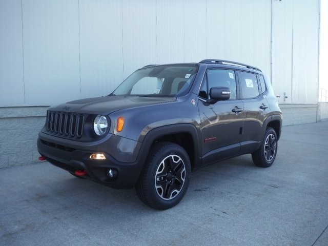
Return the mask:
<path id="1" fill-rule="evenodd" d="M 80 98 L 78 1 L 23 1 L 27 105 Z"/>

